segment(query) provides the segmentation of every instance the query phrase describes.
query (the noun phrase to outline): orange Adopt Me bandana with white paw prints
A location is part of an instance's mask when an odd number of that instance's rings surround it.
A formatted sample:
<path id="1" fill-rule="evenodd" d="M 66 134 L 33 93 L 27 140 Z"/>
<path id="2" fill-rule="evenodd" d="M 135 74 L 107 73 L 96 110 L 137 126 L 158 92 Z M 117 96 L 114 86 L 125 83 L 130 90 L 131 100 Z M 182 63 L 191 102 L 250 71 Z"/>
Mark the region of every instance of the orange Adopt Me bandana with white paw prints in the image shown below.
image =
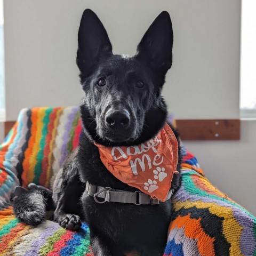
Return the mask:
<path id="1" fill-rule="evenodd" d="M 178 164 L 178 141 L 169 125 L 138 146 L 95 145 L 102 163 L 118 180 L 165 201 Z"/>

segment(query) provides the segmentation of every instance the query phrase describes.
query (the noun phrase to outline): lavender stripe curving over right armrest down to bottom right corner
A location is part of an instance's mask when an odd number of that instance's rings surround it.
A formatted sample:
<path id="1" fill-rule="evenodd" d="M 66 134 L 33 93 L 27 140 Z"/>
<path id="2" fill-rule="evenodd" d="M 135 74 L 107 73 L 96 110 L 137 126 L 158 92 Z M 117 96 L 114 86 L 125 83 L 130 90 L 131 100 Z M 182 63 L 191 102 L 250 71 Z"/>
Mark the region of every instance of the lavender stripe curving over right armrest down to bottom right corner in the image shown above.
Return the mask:
<path id="1" fill-rule="evenodd" d="M 244 212 L 239 206 L 234 205 L 232 202 L 225 202 L 221 198 L 220 199 L 214 199 L 211 197 L 205 197 L 205 196 L 199 196 L 199 195 L 193 195 L 187 193 L 187 191 L 181 186 L 179 188 L 179 191 L 175 194 L 174 198 L 175 201 L 180 202 L 195 202 L 195 201 L 201 201 L 205 203 L 214 203 L 219 206 L 224 206 L 227 208 L 232 209 L 232 213 L 236 221 L 243 227 L 243 231 L 240 238 L 240 247 L 241 252 L 244 255 L 252 255 L 254 248 L 256 246 L 256 241 L 254 238 L 253 233 L 253 219 L 250 217 L 249 214 Z M 207 207 L 205 207 L 207 208 Z M 250 241 L 250 243 L 248 243 Z"/>

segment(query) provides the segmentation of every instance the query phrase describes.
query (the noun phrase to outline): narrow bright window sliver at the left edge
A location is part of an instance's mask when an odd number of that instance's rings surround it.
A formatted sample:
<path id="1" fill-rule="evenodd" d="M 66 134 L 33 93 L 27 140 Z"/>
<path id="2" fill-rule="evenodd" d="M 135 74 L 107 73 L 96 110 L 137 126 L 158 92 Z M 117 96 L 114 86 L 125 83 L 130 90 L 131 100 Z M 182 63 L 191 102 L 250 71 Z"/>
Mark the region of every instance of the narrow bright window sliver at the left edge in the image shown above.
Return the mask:
<path id="1" fill-rule="evenodd" d="M 4 98 L 4 13 L 3 0 L 0 0 L 0 120 L 5 118 Z"/>

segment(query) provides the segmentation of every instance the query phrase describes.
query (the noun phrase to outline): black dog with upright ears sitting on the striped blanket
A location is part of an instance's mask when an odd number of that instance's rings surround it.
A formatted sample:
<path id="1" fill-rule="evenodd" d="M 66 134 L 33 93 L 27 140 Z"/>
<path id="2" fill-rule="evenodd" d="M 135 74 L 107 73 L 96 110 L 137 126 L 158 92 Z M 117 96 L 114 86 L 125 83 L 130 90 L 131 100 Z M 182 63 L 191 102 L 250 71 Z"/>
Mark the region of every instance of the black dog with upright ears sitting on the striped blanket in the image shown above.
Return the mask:
<path id="1" fill-rule="evenodd" d="M 113 55 L 97 15 L 84 11 L 77 51 L 85 92 L 81 105 L 82 139 L 59 171 L 52 193 L 34 184 L 29 191 L 19 187 L 14 191 L 17 218 L 38 225 L 46 210 L 53 208 L 54 220 L 62 227 L 77 230 L 80 218 L 87 222 L 95 256 L 122 256 L 131 251 L 144 256 L 163 254 L 171 221 L 171 199 L 158 205 L 100 204 L 85 191 L 85 184 L 138 191 L 106 169 L 94 142 L 104 146 L 139 145 L 162 129 L 167 109 L 161 92 L 172 65 L 172 44 L 171 19 L 162 12 L 143 36 L 134 57 Z M 178 139 L 178 133 L 171 128 Z M 172 189 L 179 188 L 179 179 L 174 175 Z"/>

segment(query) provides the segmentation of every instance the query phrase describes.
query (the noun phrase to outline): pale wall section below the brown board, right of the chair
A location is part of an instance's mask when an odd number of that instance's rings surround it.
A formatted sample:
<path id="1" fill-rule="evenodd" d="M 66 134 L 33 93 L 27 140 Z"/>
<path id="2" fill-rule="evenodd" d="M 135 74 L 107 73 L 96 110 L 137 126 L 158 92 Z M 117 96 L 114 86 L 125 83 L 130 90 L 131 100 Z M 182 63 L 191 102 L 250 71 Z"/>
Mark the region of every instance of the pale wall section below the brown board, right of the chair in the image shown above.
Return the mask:
<path id="1" fill-rule="evenodd" d="M 185 141 L 206 177 L 256 215 L 256 121 L 241 122 L 239 141 Z"/>

